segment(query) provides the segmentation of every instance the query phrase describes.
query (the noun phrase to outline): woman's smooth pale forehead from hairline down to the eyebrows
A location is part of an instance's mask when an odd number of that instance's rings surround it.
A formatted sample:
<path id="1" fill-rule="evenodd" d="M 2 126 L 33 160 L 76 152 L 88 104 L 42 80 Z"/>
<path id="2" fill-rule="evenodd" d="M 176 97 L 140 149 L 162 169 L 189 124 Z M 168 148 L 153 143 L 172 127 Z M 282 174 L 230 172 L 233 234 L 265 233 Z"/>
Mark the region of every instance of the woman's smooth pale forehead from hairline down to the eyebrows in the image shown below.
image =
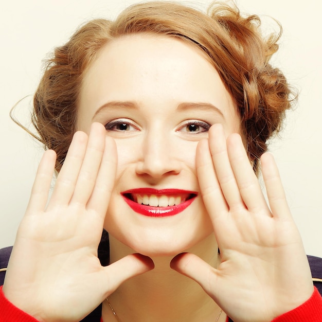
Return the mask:
<path id="1" fill-rule="evenodd" d="M 114 102 L 130 102 L 149 117 L 172 115 L 182 103 L 205 103 L 239 123 L 234 101 L 206 54 L 174 37 L 134 34 L 101 49 L 83 78 L 80 129 Z"/>

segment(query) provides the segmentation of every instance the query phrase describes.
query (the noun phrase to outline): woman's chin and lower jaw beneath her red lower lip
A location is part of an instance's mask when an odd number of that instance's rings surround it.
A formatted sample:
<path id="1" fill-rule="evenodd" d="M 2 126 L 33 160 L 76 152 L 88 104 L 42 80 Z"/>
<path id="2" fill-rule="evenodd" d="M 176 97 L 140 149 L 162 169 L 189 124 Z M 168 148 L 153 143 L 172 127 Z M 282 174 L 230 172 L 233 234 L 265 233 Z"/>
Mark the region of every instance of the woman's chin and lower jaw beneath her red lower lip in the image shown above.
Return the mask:
<path id="1" fill-rule="evenodd" d="M 173 258 L 183 252 L 200 255 L 205 248 L 217 247 L 214 236 L 208 238 L 213 235 L 212 224 L 199 199 L 185 211 L 163 218 L 142 216 L 129 210 L 123 198 L 117 201 L 110 204 L 104 223 L 117 258 L 131 253 Z"/>

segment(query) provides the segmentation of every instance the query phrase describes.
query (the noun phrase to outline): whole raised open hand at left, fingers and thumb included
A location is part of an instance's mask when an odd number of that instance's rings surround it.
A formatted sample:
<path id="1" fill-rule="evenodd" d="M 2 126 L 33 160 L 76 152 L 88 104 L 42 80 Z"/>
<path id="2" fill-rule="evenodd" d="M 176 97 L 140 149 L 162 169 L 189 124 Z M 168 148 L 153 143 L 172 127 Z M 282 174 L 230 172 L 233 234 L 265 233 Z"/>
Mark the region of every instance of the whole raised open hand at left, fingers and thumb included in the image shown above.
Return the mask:
<path id="1" fill-rule="evenodd" d="M 116 147 L 104 127 L 77 132 L 47 204 L 56 154 L 40 162 L 19 227 L 3 291 L 40 321 L 79 321 L 123 281 L 153 268 L 129 255 L 103 267 L 97 258 L 114 185 Z"/>

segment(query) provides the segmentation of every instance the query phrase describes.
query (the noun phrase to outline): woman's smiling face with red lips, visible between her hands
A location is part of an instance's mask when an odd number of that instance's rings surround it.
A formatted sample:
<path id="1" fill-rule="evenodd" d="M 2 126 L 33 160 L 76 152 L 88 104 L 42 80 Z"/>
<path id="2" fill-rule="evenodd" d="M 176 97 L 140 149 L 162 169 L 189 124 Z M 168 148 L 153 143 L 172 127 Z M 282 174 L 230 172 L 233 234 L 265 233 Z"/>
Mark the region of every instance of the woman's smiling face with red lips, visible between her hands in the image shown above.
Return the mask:
<path id="1" fill-rule="evenodd" d="M 104 224 L 111 235 L 155 256 L 176 255 L 211 234 L 196 146 L 212 124 L 222 123 L 228 136 L 240 132 L 240 120 L 202 51 L 154 34 L 113 40 L 85 74 L 78 117 L 80 130 L 100 122 L 116 142 Z"/>

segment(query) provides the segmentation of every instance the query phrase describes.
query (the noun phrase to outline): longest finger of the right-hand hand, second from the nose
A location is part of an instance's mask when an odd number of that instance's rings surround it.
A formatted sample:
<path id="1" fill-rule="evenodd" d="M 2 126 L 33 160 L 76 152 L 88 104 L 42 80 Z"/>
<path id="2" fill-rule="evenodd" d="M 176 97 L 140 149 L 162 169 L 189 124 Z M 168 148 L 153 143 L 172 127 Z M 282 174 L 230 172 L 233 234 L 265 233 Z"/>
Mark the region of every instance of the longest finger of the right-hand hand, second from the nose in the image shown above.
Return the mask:
<path id="1" fill-rule="evenodd" d="M 209 147 L 218 181 L 229 208 L 243 204 L 227 153 L 226 136 L 221 124 L 209 130 Z"/>

